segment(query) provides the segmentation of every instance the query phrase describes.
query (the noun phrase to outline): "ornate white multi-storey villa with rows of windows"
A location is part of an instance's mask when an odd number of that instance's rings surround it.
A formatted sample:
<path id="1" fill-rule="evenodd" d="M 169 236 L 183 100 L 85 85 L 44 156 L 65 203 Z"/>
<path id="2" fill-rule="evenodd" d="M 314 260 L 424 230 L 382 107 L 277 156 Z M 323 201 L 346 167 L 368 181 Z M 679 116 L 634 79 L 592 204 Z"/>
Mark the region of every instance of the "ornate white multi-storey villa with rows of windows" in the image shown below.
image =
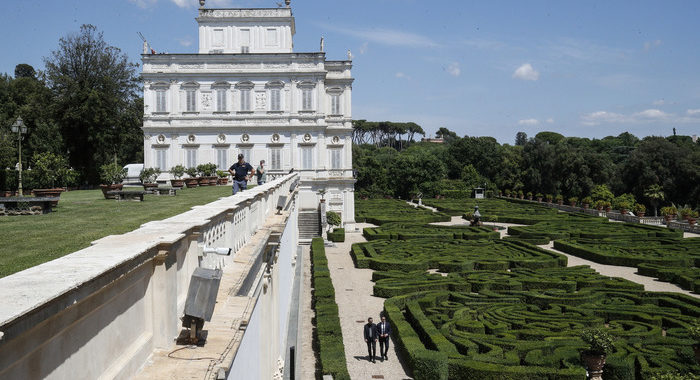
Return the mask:
<path id="1" fill-rule="evenodd" d="M 215 163 L 227 170 L 239 153 L 268 181 L 300 174 L 300 209 L 327 209 L 354 228 L 352 61 L 295 53 L 294 16 L 286 8 L 210 9 L 196 18 L 197 54 L 150 54 L 144 46 L 144 165 Z M 253 180 L 252 180 L 253 181 Z M 251 181 L 251 182 L 252 182 Z"/>

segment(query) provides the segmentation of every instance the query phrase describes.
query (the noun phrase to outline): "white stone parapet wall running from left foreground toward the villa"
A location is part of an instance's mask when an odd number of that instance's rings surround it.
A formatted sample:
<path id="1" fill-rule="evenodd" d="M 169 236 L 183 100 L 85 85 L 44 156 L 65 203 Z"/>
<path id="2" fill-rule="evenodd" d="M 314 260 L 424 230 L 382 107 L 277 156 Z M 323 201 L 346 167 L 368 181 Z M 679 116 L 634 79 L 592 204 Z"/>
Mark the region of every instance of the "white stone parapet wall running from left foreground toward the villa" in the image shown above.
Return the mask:
<path id="1" fill-rule="evenodd" d="M 180 331 L 190 276 L 240 249 L 297 181 L 251 190 L 0 279 L 0 378 L 129 378 Z M 234 254 L 235 255 L 235 254 Z"/>

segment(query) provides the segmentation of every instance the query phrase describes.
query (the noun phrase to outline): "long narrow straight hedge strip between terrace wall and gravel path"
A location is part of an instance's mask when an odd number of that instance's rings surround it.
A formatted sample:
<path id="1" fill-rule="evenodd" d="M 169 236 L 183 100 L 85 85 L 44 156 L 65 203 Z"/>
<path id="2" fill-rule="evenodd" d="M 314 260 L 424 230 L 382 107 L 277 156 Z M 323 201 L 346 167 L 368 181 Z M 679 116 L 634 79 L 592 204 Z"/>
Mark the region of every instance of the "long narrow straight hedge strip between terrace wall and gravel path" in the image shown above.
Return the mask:
<path id="1" fill-rule="evenodd" d="M 332 375 L 333 379 L 350 379 L 345 362 L 343 333 L 338 317 L 338 304 L 335 302 L 335 289 L 328 270 L 326 250 L 322 238 L 311 241 L 311 280 L 312 303 L 316 312 L 314 329 L 314 349 L 318 353 L 318 369 L 322 375 Z"/>

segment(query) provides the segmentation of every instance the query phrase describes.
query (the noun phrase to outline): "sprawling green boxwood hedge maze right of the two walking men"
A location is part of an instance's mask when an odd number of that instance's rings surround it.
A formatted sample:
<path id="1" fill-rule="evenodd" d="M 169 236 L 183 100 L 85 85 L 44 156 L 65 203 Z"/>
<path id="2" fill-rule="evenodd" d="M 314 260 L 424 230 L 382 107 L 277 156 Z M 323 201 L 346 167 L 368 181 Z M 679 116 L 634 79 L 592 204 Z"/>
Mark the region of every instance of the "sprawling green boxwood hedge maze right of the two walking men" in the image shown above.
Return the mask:
<path id="1" fill-rule="evenodd" d="M 505 202 L 492 202 L 509 214 Z M 482 215 L 490 212 L 486 202 L 479 204 Z M 365 217 L 373 212 L 365 209 Z M 697 298 L 646 292 L 588 266 L 566 267 L 564 255 L 518 239 L 494 240 L 488 230 L 486 239 L 469 240 L 435 226 L 421 230 L 402 213 L 393 213 L 400 223 L 391 223 L 386 207 L 376 212 L 382 228 L 371 229 L 374 240 L 353 245 L 351 255 L 358 267 L 374 270 L 374 294 L 386 298 L 396 347 L 416 379 L 585 379 L 580 353 L 586 344 L 579 336 L 591 327 L 605 327 L 615 338 L 606 380 L 700 376 L 688 332 L 700 318 Z M 601 218 L 550 216 L 521 235 L 563 238 L 555 242 L 562 250 L 566 244 L 567 252 L 640 271 L 676 268 L 664 275 L 696 284 L 689 273 L 697 272 L 698 240 Z M 430 237 L 417 236 L 426 231 Z"/>

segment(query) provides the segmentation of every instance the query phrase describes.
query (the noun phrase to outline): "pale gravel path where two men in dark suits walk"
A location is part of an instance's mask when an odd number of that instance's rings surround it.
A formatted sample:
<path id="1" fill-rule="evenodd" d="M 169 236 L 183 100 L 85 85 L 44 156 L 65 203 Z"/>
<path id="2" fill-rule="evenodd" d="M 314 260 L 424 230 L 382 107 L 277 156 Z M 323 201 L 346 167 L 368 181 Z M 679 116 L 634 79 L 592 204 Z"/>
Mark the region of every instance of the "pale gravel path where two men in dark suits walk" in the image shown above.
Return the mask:
<path id="1" fill-rule="evenodd" d="M 362 236 L 362 229 L 375 226 L 358 223 L 357 227 L 358 232 L 345 234 L 344 243 L 335 243 L 335 247 L 326 247 L 350 377 L 358 380 L 372 380 L 373 376 L 381 375 L 387 380 L 410 379 L 407 375 L 408 369 L 404 368 L 397 358 L 393 339 L 389 345 L 388 361 L 382 362 L 377 359 L 376 363 L 371 363 L 367 360 L 367 345 L 362 329 L 368 317 L 374 318 L 374 323 L 379 322 L 379 313 L 384 309 L 384 298 L 372 295 L 374 286 L 372 270 L 355 268 L 350 256 L 350 246 L 353 243 L 366 241 Z M 377 343 L 377 354 L 379 354 L 379 343 Z"/>

